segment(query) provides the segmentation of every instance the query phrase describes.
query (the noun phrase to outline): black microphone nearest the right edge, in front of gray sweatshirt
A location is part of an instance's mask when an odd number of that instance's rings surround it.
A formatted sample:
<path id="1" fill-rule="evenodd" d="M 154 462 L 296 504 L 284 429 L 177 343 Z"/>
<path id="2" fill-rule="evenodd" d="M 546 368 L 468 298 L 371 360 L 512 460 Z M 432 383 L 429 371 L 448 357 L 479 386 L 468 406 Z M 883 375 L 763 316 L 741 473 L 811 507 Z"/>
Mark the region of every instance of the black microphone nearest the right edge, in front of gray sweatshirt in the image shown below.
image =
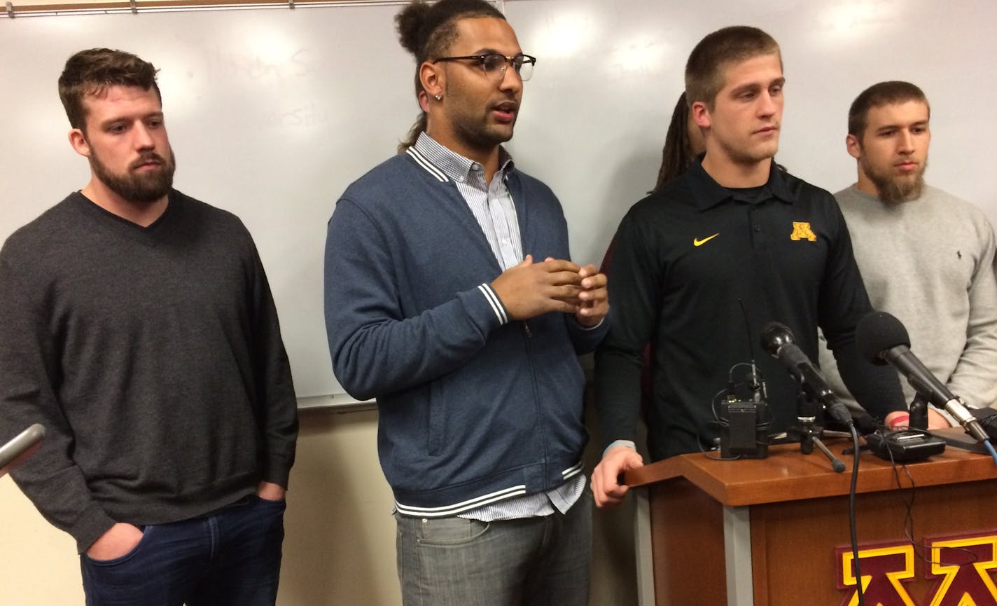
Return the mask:
<path id="1" fill-rule="evenodd" d="M 921 397 L 954 416 L 966 433 L 980 441 L 988 438 L 962 401 L 910 350 L 910 336 L 900 320 L 885 311 L 867 313 L 855 328 L 855 343 L 861 355 L 872 363 L 888 362 L 896 368 Z"/>

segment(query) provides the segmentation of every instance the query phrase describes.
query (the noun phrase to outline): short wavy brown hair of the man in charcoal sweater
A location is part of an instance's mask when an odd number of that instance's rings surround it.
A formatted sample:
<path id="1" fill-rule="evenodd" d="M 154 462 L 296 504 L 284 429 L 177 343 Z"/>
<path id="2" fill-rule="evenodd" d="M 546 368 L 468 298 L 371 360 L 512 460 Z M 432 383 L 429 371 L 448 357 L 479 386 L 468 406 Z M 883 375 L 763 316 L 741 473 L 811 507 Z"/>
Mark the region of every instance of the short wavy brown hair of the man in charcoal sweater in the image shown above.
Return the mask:
<path id="1" fill-rule="evenodd" d="M 86 132 L 87 111 L 83 99 L 89 95 L 103 95 L 112 86 L 135 86 L 153 89 L 163 102 L 156 83 L 159 70 L 132 53 L 108 48 L 80 51 L 66 61 L 59 77 L 59 99 L 66 109 L 69 124 Z"/>

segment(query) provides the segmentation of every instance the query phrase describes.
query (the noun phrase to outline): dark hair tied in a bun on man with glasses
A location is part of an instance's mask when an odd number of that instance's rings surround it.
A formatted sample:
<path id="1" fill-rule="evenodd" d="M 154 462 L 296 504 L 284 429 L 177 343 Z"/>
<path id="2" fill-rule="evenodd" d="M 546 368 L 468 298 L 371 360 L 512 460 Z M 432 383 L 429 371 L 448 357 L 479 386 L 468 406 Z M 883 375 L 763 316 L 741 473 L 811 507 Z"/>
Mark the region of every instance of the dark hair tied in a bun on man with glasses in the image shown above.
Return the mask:
<path id="1" fill-rule="evenodd" d="M 457 40 L 459 20 L 482 17 L 505 19 L 493 4 L 485 0 L 440 0 L 434 4 L 416 0 L 395 15 L 398 40 L 416 59 L 417 99 L 423 93 L 423 84 L 419 78 L 420 66 L 426 61 L 445 56 Z M 426 112 L 421 112 L 405 141 L 399 144 L 398 152 L 404 153 L 415 145 L 419 135 L 426 131 L 426 126 Z"/>

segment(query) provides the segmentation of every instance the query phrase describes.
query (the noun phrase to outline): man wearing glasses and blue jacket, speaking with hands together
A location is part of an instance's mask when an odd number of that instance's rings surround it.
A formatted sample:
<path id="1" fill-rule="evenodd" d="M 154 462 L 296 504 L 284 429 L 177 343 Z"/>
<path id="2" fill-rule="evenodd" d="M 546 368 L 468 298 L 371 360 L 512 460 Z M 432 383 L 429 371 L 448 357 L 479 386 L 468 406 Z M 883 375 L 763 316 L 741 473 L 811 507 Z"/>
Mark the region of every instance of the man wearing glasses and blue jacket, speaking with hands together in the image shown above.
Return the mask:
<path id="1" fill-rule="evenodd" d="M 423 114 L 337 203 L 325 303 L 337 377 L 378 399 L 403 600 L 586 605 L 576 353 L 605 333 L 606 281 L 500 147 L 535 59 L 482 0 L 397 22 Z"/>

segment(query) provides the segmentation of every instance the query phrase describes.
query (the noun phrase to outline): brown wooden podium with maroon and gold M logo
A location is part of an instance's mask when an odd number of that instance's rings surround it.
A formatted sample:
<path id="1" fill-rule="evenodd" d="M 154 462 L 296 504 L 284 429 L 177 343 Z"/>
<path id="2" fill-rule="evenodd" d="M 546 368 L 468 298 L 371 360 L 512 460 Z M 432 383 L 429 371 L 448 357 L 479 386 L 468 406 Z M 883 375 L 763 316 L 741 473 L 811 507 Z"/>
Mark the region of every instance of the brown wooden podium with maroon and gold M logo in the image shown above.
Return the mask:
<path id="1" fill-rule="evenodd" d="M 835 555 L 836 547 L 850 543 L 852 457 L 841 451 L 851 442 L 826 442 L 845 462 L 843 473 L 831 471 L 820 451 L 802 454 L 799 444 L 774 446 L 765 459 L 684 454 L 627 472 L 628 485 L 647 487 L 654 603 L 836 606 L 851 595 L 853 589 L 837 587 Z M 906 467 L 915 485 L 918 543 L 925 537 L 997 534 L 997 465 L 991 457 L 948 446 Z M 858 469 L 859 547 L 904 541 L 903 496 L 909 491 L 897 489 L 888 461 L 863 452 Z M 909 488 L 910 477 L 898 470 L 900 485 Z M 921 573 L 904 580 L 904 588 L 915 604 L 926 605 L 938 581 L 925 578 L 925 564 L 915 564 Z"/>

